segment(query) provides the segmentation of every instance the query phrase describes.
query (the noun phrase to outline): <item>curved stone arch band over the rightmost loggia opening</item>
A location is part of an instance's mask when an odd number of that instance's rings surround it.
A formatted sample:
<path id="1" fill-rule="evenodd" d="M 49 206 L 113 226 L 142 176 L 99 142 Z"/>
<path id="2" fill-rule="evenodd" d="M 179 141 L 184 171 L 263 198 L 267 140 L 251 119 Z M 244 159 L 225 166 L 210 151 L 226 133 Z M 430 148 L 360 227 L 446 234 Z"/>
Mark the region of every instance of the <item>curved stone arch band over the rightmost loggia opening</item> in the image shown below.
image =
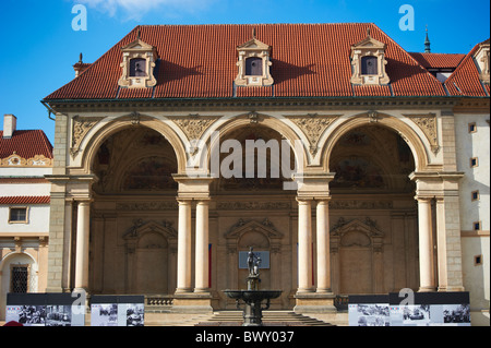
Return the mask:
<path id="1" fill-rule="evenodd" d="M 396 117 L 379 113 L 379 112 L 364 112 L 338 124 L 333 132 L 330 133 L 328 137 L 325 140 L 324 146 L 322 148 L 323 167 L 327 172 L 330 171 L 330 159 L 336 143 L 342 139 L 343 135 L 349 131 L 369 124 L 376 124 L 388 128 L 396 132 L 409 146 L 412 156 L 415 158 L 415 171 L 422 171 L 430 165 L 430 155 L 428 148 L 431 146 L 427 144 L 424 139 L 421 139 L 418 133 L 408 124 L 400 121 Z"/>

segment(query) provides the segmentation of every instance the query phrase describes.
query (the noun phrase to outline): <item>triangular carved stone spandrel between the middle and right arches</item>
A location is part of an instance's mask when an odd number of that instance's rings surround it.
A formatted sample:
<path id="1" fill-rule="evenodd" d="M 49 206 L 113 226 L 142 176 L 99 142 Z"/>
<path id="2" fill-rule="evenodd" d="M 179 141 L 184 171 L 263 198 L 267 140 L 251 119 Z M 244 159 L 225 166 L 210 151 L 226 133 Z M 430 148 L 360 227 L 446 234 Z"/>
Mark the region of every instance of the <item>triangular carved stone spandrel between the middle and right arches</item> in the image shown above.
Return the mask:
<path id="1" fill-rule="evenodd" d="M 312 155 L 315 155 L 321 135 L 339 116 L 309 113 L 307 116 L 287 116 L 287 118 L 307 135 L 310 144 L 309 151 Z"/>

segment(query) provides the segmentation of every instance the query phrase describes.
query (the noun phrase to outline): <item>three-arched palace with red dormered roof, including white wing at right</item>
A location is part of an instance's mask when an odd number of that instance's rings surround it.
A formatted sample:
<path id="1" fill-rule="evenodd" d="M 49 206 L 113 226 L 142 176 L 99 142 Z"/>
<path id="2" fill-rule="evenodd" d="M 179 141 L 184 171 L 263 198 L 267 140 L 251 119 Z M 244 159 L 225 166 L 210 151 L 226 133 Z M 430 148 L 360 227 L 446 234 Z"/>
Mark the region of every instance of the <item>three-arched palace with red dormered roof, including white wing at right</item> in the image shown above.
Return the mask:
<path id="1" fill-rule="evenodd" d="M 74 69 L 43 100 L 47 291 L 232 309 L 253 247 L 272 308 L 469 291 L 489 324 L 489 40 L 408 53 L 373 24 L 149 25 Z"/>

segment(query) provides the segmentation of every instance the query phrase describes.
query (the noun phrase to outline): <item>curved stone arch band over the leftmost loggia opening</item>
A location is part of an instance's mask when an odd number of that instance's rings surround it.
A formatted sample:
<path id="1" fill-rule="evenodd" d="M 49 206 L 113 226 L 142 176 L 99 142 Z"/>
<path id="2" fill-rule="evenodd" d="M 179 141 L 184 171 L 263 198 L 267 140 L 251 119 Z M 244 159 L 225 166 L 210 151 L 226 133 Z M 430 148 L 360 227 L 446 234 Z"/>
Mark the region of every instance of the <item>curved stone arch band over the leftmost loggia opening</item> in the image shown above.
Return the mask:
<path id="1" fill-rule="evenodd" d="M 164 136 L 173 148 L 177 158 L 178 172 L 185 171 L 185 147 L 179 135 L 172 130 L 171 127 L 167 125 L 165 122 L 147 116 L 139 117 L 137 121 L 128 116 L 123 116 L 109 122 L 100 122 L 99 127 L 96 125 L 94 130 L 91 131 L 87 136 L 85 136 L 81 144 L 81 147 L 85 148 L 82 158 L 83 170 L 86 173 L 92 173 L 92 165 L 103 143 L 112 134 L 116 134 L 125 129 L 131 129 L 132 127 L 145 127 L 158 132 L 161 136 Z"/>

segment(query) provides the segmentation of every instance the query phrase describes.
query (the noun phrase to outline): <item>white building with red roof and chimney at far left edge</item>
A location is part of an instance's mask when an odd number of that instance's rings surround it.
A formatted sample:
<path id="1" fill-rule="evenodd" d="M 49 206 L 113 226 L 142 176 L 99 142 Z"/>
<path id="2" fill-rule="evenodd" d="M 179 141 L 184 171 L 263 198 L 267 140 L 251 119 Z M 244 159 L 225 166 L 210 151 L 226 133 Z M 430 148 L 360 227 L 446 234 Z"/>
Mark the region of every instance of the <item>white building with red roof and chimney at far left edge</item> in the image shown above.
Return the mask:
<path id="1" fill-rule="evenodd" d="M 17 130 L 13 115 L 0 131 L 0 319 L 7 293 L 45 292 L 52 145 L 41 130 Z"/>

